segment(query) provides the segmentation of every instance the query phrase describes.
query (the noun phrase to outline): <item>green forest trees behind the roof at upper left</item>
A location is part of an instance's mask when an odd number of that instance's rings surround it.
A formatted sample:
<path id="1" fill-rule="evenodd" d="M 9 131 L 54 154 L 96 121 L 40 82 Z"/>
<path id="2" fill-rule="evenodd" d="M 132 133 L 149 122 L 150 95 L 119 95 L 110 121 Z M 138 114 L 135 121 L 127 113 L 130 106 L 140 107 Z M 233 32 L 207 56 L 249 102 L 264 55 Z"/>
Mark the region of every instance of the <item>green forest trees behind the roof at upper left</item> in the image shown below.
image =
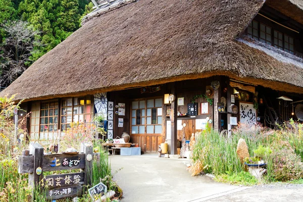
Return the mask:
<path id="1" fill-rule="evenodd" d="M 36 44 L 33 49 L 26 51 L 27 64 L 19 66 L 23 69 L 17 71 L 11 80 L 16 79 L 26 69 L 26 65 L 29 66 L 76 31 L 80 27 L 81 16 L 92 9 L 92 4 L 89 3 L 89 0 L 0 0 L 0 24 L 11 22 L 11 26 L 17 26 L 16 22 L 23 21 L 26 29 L 35 32 L 31 39 L 34 38 L 41 44 Z M 3 26 L 0 27 L 0 43 L 6 41 L 9 36 L 10 33 Z M 0 47 L 7 49 L 5 44 Z M 0 61 L 6 60 L 0 59 Z M 17 65 L 18 61 L 17 63 L 6 63 L 5 71 L 9 72 L 10 67 Z M 12 68 L 13 72 L 16 72 L 16 67 L 12 66 Z M 1 71 L 0 75 L 3 75 Z M 9 85 L 11 82 L 7 81 L 3 85 Z"/>

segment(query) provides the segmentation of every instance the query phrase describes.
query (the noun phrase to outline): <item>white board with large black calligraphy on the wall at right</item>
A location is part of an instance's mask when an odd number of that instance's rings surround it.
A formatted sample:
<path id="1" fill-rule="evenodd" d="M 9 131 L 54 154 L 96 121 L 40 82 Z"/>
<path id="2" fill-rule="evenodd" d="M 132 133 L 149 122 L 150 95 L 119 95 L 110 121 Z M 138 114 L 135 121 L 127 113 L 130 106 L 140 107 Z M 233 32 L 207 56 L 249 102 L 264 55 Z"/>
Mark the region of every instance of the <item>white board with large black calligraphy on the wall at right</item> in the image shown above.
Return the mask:
<path id="1" fill-rule="evenodd" d="M 240 123 L 256 124 L 257 110 L 253 103 L 240 102 Z"/>

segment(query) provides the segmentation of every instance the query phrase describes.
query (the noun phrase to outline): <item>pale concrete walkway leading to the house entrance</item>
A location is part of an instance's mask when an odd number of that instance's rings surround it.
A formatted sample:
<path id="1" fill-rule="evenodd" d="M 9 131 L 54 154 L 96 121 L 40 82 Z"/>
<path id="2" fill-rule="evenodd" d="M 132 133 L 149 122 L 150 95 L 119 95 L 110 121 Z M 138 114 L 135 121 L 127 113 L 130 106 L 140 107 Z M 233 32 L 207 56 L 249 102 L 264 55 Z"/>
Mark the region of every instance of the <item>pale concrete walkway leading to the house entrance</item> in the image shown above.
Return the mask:
<path id="1" fill-rule="evenodd" d="M 123 168 L 114 179 L 127 201 L 205 201 L 249 187 L 214 182 L 208 176 L 190 176 L 186 159 L 164 159 L 157 155 L 110 156 L 112 171 Z"/>

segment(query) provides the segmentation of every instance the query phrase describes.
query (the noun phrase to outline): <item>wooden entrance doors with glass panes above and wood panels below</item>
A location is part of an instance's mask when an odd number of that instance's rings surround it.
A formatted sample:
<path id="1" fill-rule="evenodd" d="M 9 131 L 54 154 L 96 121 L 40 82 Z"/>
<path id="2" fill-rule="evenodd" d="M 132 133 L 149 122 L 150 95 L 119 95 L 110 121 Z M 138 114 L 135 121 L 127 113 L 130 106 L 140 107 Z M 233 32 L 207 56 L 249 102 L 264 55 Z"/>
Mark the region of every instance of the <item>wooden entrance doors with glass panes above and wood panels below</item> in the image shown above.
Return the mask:
<path id="1" fill-rule="evenodd" d="M 143 98 L 131 102 L 131 142 L 138 143 L 142 151 L 157 152 L 163 142 L 163 99 Z"/>

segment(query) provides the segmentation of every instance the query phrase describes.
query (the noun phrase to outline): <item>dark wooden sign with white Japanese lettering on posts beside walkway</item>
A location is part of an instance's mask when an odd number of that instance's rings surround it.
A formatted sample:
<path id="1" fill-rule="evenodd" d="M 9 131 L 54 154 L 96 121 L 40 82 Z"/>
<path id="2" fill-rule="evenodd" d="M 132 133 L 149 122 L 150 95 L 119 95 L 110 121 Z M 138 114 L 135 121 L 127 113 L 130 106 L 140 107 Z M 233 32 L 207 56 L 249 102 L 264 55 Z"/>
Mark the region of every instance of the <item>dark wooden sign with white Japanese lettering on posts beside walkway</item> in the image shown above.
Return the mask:
<path id="1" fill-rule="evenodd" d="M 47 187 L 46 199 L 80 196 L 83 188 L 92 184 L 92 146 L 84 144 L 82 154 L 43 155 L 40 144 L 30 144 L 30 156 L 19 156 L 19 173 L 29 173 L 32 187 Z M 45 171 L 81 169 L 79 173 L 46 175 Z M 34 197 L 33 197 L 34 198 Z"/>

